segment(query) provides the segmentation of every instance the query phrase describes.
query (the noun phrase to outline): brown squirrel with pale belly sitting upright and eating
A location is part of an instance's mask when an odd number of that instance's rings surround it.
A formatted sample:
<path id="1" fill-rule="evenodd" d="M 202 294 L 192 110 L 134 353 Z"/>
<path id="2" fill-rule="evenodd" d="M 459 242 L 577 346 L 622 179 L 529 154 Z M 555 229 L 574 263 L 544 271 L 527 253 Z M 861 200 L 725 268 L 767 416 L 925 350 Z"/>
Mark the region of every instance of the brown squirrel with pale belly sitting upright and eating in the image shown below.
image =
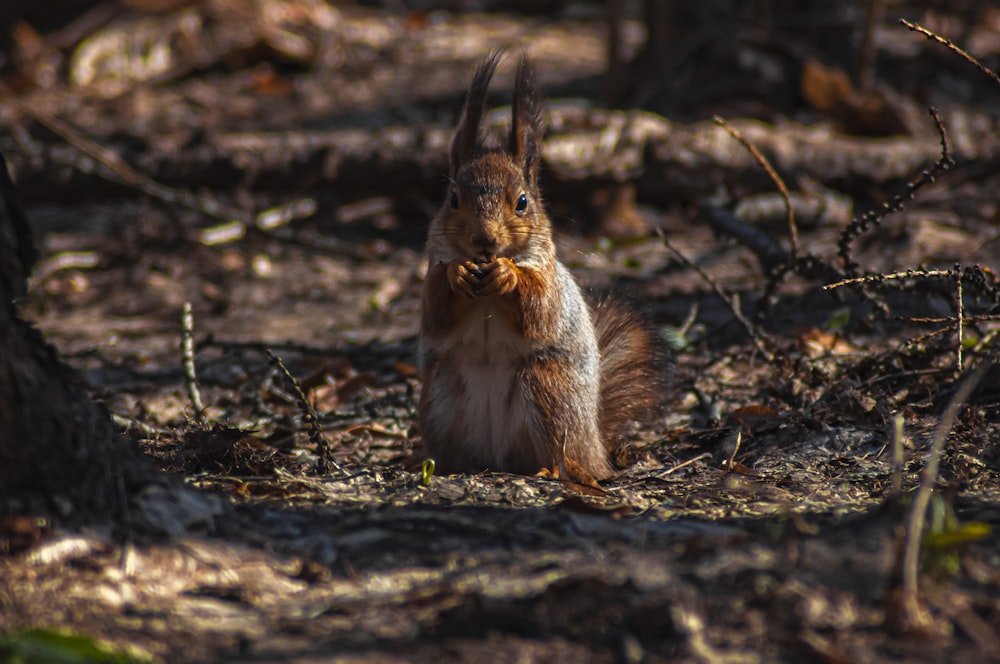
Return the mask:
<path id="1" fill-rule="evenodd" d="M 526 58 L 506 148 L 484 136 L 501 55 L 487 56 L 472 80 L 451 184 L 428 233 L 424 446 L 445 472 L 530 474 L 571 461 L 603 479 L 630 423 L 659 404 L 662 347 L 621 303 L 588 306 L 556 258 L 538 189 L 544 120 Z"/>

